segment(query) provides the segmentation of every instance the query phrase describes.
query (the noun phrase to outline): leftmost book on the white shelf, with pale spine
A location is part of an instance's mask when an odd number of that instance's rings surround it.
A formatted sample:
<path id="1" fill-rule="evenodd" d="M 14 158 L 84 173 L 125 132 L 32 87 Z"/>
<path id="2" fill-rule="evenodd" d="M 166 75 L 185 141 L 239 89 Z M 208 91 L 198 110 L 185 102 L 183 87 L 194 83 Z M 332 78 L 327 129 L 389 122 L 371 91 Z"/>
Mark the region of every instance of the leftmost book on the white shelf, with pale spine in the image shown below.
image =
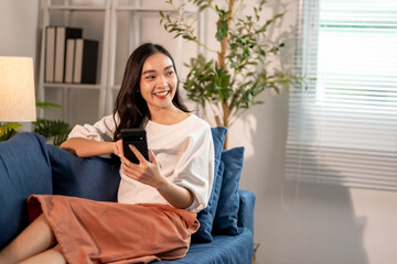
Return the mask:
<path id="1" fill-rule="evenodd" d="M 55 26 L 45 28 L 45 69 L 44 81 L 54 81 L 54 66 L 55 66 Z"/>

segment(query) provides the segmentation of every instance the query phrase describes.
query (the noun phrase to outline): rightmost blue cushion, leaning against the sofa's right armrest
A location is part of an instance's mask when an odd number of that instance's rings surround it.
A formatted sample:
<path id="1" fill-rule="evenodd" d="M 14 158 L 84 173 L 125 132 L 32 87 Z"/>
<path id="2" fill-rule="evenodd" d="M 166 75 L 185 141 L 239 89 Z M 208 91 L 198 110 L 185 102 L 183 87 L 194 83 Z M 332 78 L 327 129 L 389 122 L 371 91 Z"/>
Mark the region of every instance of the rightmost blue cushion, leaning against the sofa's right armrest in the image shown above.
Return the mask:
<path id="1" fill-rule="evenodd" d="M 244 163 L 244 147 L 239 146 L 223 151 L 221 162 L 225 164 L 225 170 L 213 233 L 236 235 L 238 234 L 239 209 L 238 184 Z"/>

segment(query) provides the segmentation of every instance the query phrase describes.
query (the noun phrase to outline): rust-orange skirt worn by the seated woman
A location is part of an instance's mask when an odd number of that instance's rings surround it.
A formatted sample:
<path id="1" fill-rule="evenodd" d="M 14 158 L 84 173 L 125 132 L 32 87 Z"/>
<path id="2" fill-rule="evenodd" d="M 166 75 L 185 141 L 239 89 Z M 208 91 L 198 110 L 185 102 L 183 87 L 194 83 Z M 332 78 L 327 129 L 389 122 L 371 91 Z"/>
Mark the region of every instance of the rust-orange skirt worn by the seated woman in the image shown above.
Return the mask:
<path id="1" fill-rule="evenodd" d="M 34 195 L 30 220 L 43 213 L 69 264 L 149 263 L 183 257 L 196 213 L 165 205 L 125 205 Z"/>

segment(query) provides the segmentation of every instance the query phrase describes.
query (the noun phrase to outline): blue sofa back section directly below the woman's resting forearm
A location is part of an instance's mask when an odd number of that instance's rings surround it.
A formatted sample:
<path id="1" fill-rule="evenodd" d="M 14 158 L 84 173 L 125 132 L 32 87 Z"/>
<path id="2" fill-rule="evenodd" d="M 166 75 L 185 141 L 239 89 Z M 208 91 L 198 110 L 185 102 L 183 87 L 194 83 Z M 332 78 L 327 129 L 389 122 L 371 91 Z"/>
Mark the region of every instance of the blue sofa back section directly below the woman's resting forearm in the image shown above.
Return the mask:
<path id="1" fill-rule="evenodd" d="M 101 157 L 77 157 L 47 145 L 54 195 L 76 196 L 99 201 L 117 201 L 119 172 Z"/>

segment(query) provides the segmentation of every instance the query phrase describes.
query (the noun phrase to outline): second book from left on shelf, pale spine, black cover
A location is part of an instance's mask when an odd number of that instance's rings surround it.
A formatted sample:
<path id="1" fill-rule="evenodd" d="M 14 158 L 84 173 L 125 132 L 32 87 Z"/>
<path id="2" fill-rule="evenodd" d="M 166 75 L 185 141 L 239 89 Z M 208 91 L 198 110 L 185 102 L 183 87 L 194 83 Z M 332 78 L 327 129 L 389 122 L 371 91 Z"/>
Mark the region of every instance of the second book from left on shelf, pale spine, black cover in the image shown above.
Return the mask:
<path id="1" fill-rule="evenodd" d="M 65 81 L 66 43 L 68 38 L 83 37 L 83 29 L 56 26 L 55 31 L 55 73 L 54 81 Z"/>

